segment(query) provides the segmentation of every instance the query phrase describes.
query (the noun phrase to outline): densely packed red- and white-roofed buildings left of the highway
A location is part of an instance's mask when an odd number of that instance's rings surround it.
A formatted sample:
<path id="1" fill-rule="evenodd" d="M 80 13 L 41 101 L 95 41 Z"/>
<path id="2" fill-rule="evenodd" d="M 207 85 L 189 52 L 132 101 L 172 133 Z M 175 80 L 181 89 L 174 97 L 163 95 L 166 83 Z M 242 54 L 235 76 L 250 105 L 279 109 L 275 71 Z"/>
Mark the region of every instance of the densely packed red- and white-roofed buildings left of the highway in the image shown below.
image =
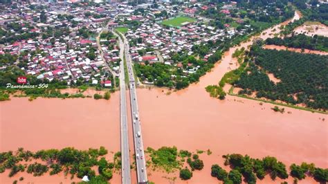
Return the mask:
<path id="1" fill-rule="evenodd" d="M 40 10 L 39 5 L 22 1 L 15 8 L 1 10 L 1 37 L 12 39 L 0 44 L 0 55 L 19 55 L 15 64 L 40 80 L 109 86 L 116 75 L 110 71 L 119 70 L 117 40 L 98 41 L 97 36 L 109 31 L 107 23 L 123 7 L 46 3 L 48 7 Z"/>

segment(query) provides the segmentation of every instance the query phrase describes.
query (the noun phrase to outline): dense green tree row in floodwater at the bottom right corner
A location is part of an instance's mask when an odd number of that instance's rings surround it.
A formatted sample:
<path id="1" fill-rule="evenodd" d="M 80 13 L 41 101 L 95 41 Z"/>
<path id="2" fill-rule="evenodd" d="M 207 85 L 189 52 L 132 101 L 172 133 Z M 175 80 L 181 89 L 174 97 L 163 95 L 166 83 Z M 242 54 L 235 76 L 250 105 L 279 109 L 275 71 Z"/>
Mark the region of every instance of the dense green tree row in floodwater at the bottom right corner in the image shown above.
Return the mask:
<path id="1" fill-rule="evenodd" d="M 224 183 L 242 183 L 242 176 L 246 183 L 256 183 L 257 178 L 262 180 L 266 174 L 269 174 L 273 180 L 276 177 L 286 179 L 289 174 L 286 172 L 286 166 L 272 156 L 266 156 L 262 159 L 250 158 L 241 154 L 228 154 L 224 156 L 224 165 L 230 165 L 233 169 L 228 173 L 225 169 L 215 164 L 211 167 L 211 176 L 216 177 Z M 297 181 L 306 176 L 313 176 L 316 181 L 328 181 L 328 169 L 315 167 L 313 163 L 302 163 L 301 165 L 292 164 L 290 174 Z"/>

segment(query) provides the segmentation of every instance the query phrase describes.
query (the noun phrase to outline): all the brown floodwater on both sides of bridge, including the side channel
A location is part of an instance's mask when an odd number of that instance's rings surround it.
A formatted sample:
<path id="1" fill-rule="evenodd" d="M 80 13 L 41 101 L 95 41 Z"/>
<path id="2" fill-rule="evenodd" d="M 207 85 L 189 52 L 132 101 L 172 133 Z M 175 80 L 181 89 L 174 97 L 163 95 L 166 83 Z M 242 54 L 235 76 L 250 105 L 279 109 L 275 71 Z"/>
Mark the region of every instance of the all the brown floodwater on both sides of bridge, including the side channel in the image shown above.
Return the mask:
<path id="1" fill-rule="evenodd" d="M 260 36 L 269 37 L 269 33 L 271 30 L 266 30 L 266 34 Z M 220 64 L 215 64 L 210 73 L 188 89 L 170 95 L 166 94 L 167 89 L 138 89 L 145 147 L 176 146 L 190 151 L 212 151 L 210 156 L 201 154 L 205 167 L 195 171 L 188 183 L 218 183 L 210 176 L 210 167 L 215 163 L 223 166 L 221 156 L 224 154 L 248 154 L 254 158 L 275 156 L 287 167 L 303 161 L 328 167 L 327 115 L 289 107 L 284 108 L 290 113 L 277 113 L 271 110 L 273 104 L 261 105 L 255 100 L 229 95 L 226 100 L 217 100 L 205 91 L 206 86 L 217 84 L 224 73 L 237 68 L 231 55 L 237 48 L 247 48 L 249 44 L 231 48 Z M 119 93 L 113 93 L 108 101 L 38 98 L 29 102 L 27 98 L 12 98 L 1 102 L 0 151 L 16 150 L 17 147 L 37 151 L 69 146 L 77 149 L 104 146 L 109 151 L 119 151 L 119 99 Z M 129 135 L 131 142 L 131 125 Z M 130 147 L 133 150 L 131 143 Z M 112 154 L 108 158 L 112 158 Z M 178 172 L 165 174 L 151 169 L 147 172 L 149 181 L 155 183 L 169 183 L 173 177 L 176 177 L 175 183 L 187 183 L 179 179 Z M 135 183 L 135 172 L 132 174 Z M 41 177 L 21 174 L 8 178 L 6 171 L 0 174 L 0 183 L 12 183 L 19 176 L 24 176 L 25 183 L 71 182 L 63 174 L 51 177 L 48 174 Z M 259 183 L 280 181 L 266 177 Z M 287 181 L 291 183 L 292 178 Z M 307 178 L 300 183 L 313 182 L 312 178 Z M 120 183 L 119 174 L 114 174 L 111 183 Z"/>

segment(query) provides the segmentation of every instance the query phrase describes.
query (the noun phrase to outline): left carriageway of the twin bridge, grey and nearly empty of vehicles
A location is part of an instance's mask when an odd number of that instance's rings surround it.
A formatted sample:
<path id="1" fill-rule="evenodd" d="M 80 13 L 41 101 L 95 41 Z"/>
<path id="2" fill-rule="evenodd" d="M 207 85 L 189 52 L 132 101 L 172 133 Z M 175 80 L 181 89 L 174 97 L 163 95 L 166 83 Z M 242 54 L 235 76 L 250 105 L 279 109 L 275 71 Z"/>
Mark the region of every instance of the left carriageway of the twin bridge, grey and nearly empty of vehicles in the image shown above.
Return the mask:
<path id="1" fill-rule="evenodd" d="M 120 42 L 122 42 L 120 40 Z M 122 43 L 120 43 L 122 44 Z M 125 94 L 125 73 L 123 62 L 123 47 L 120 48 L 120 150 L 122 159 L 122 183 L 131 183 L 129 132 L 127 129 L 127 96 Z"/>

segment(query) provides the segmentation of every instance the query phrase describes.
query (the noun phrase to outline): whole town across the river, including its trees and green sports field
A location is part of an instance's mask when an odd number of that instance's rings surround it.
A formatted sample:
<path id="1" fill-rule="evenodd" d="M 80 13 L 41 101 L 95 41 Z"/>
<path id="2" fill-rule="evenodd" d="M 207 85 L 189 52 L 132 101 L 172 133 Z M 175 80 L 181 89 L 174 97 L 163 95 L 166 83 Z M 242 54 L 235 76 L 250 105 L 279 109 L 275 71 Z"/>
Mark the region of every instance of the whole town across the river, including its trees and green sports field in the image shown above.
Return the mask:
<path id="1" fill-rule="evenodd" d="M 243 17 L 284 13 L 273 10 L 274 3 L 256 11 L 237 7 L 235 1 L 220 6 L 194 1 L 132 5 L 17 2 L 1 13 L 0 68 L 18 66 L 37 80 L 114 89 L 120 58 L 112 31 L 118 31 L 129 40 L 138 84 L 181 89 L 212 68 L 228 42 L 259 29 Z M 213 11 L 219 17 L 211 17 Z"/>

